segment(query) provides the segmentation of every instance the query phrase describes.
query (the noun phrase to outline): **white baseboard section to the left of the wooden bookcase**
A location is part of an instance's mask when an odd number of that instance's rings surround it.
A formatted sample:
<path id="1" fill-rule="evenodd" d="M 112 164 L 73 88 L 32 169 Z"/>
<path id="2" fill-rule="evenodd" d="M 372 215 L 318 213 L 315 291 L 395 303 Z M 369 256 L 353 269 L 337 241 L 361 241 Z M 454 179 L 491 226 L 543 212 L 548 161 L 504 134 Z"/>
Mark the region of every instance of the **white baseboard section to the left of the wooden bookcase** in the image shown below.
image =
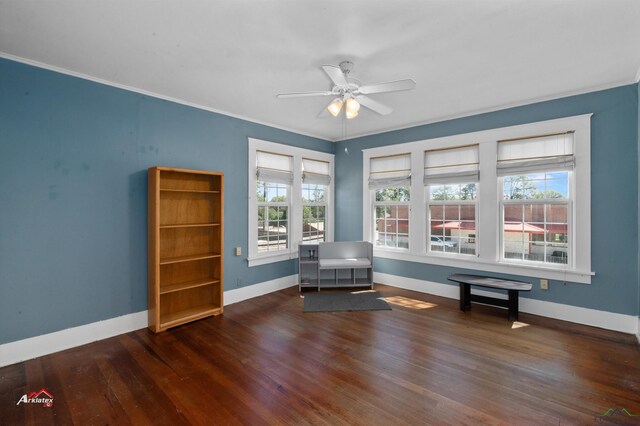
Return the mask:
<path id="1" fill-rule="evenodd" d="M 145 328 L 147 311 L 0 345 L 0 367 Z"/>

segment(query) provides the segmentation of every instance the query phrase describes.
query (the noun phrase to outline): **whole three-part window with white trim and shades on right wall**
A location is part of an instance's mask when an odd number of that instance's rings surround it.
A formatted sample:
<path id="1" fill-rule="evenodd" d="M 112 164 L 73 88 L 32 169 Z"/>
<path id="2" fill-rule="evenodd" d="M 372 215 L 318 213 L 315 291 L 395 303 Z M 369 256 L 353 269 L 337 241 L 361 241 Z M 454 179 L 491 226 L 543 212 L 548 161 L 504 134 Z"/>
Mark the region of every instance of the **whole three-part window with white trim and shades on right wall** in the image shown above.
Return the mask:
<path id="1" fill-rule="evenodd" d="M 590 283 L 590 146 L 585 114 L 365 149 L 363 238 L 377 257 Z"/>

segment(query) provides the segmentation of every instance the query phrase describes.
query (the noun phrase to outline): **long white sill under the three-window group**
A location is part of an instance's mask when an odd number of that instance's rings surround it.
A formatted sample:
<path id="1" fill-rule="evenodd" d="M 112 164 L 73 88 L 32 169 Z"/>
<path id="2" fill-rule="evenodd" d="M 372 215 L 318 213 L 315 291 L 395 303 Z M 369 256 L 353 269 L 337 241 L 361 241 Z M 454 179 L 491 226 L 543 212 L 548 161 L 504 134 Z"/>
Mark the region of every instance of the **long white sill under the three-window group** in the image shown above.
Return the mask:
<path id="1" fill-rule="evenodd" d="M 407 251 L 374 248 L 373 255 L 385 259 L 404 260 L 407 262 L 427 263 L 431 265 L 464 268 L 483 272 L 519 275 L 528 278 L 545 278 L 556 281 L 591 284 L 591 277 L 595 272 L 579 271 L 575 269 L 558 269 L 537 265 L 520 265 L 507 262 L 487 262 L 477 257 L 469 256 L 464 259 L 459 256 L 449 257 L 435 254 L 415 254 Z"/>

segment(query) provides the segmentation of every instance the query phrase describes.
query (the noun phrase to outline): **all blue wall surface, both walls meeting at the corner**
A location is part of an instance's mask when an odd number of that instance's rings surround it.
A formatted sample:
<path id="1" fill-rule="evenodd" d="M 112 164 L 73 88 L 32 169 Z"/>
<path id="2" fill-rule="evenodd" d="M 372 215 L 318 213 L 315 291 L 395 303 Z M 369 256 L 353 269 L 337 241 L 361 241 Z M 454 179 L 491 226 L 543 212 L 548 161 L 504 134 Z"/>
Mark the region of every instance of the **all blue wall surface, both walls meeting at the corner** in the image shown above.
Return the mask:
<path id="1" fill-rule="evenodd" d="M 0 344 L 147 308 L 146 169 L 225 173 L 225 287 L 295 273 L 248 268 L 247 137 L 336 152 L 336 239 L 362 238 L 363 148 L 593 112 L 592 285 L 532 297 L 639 314 L 637 85 L 334 144 L 0 59 Z M 344 148 L 349 148 L 349 154 Z M 615 208 L 618 206 L 619 208 Z M 446 283 L 451 269 L 377 259 Z M 238 285 L 239 283 L 239 285 Z"/>

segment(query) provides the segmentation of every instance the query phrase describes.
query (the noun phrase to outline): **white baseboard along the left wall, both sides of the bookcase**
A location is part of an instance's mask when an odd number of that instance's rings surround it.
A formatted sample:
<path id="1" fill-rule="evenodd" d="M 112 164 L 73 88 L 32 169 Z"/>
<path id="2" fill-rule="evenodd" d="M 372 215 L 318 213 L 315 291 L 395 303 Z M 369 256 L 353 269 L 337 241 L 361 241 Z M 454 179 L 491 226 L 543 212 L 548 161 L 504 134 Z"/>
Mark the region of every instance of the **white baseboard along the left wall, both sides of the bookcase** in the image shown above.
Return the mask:
<path id="1" fill-rule="evenodd" d="M 298 275 L 277 278 L 224 292 L 225 306 L 298 285 Z M 0 345 L 0 367 L 85 345 L 149 325 L 147 311 L 110 318 Z"/>

